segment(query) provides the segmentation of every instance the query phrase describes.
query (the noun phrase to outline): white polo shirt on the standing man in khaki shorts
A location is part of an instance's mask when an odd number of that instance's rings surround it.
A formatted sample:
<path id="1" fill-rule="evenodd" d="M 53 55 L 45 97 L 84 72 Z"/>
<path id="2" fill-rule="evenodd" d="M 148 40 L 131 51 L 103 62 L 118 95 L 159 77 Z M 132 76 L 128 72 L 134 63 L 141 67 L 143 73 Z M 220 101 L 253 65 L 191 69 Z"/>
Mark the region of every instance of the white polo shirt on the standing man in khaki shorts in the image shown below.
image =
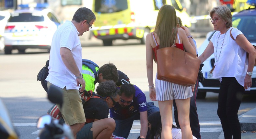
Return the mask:
<path id="1" fill-rule="evenodd" d="M 76 61 L 78 69 L 82 70 L 82 47 L 78 37 L 79 32 L 71 21 L 66 21 L 53 35 L 50 51 L 49 75 L 46 80 L 50 83 L 64 88 L 76 89 L 76 76 L 66 68 L 60 55 L 60 48 L 70 49 Z"/>

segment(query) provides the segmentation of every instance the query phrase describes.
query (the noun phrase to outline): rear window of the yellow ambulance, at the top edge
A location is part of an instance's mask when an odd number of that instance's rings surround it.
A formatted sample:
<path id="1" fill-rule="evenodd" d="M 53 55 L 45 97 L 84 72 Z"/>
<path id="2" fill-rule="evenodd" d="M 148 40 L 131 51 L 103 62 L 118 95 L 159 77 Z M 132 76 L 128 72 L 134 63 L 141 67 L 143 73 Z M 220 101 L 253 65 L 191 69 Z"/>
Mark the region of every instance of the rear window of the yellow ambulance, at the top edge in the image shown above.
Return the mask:
<path id="1" fill-rule="evenodd" d="M 114 13 L 128 9 L 127 0 L 95 0 L 95 12 Z"/>

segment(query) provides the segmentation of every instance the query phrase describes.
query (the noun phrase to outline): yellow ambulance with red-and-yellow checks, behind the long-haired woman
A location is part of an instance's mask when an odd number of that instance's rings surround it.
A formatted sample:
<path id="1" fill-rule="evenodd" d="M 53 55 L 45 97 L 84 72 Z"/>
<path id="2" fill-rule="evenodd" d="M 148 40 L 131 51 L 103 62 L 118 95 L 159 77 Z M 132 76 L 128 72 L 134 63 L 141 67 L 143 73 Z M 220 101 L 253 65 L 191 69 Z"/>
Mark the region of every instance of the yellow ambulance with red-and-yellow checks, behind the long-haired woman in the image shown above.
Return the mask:
<path id="1" fill-rule="evenodd" d="M 174 6 L 183 25 L 191 27 L 190 17 L 179 0 L 93 0 L 93 36 L 101 39 L 104 46 L 111 46 L 116 39 L 140 39 L 145 44 L 145 37 L 154 30 L 158 11 L 165 4 Z"/>

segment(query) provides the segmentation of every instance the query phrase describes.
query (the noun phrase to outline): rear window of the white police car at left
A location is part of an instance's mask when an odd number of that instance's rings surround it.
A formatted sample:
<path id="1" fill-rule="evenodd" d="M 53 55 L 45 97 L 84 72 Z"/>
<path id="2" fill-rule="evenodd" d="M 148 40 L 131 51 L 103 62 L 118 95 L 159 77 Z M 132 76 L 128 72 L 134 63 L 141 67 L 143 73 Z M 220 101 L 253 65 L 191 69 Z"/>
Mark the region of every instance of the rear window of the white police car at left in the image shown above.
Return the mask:
<path id="1" fill-rule="evenodd" d="M 37 13 L 14 13 L 9 19 L 9 22 L 41 22 L 44 17 Z"/>

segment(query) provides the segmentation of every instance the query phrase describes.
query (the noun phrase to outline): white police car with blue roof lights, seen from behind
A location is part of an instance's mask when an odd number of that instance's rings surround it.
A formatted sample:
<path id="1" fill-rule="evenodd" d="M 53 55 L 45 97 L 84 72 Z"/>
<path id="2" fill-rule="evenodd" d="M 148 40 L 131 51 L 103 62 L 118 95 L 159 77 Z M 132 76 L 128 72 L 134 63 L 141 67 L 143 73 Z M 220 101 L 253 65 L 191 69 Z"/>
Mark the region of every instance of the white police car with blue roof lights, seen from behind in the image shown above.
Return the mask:
<path id="1" fill-rule="evenodd" d="M 24 53 L 27 48 L 48 49 L 52 36 L 61 22 L 46 4 L 20 5 L 22 9 L 11 13 L 5 27 L 5 54 L 13 49 Z"/>

